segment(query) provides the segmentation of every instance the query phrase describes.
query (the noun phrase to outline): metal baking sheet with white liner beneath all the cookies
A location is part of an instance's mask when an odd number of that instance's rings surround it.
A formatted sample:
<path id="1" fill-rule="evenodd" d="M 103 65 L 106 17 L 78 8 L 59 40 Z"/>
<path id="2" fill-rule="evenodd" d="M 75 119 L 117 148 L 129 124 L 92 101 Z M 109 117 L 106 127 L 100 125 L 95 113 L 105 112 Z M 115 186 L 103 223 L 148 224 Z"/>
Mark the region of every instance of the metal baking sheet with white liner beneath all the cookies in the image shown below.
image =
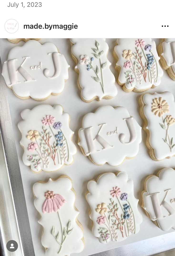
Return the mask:
<path id="1" fill-rule="evenodd" d="M 21 100 L 18 99 L 11 89 L 5 86 L 3 78 L 1 78 L 1 129 L 3 127 L 4 132 L 2 133 L 5 157 L 8 164 L 8 174 L 14 178 L 10 179 L 9 185 L 13 187 L 13 197 L 17 194 L 18 189 L 24 190 L 24 196 L 16 198 L 15 207 L 16 213 L 21 210 L 21 216 L 19 216 L 17 224 L 19 226 L 19 235 L 21 235 L 21 251 L 23 249 L 24 255 L 44 256 L 45 249 L 41 244 L 42 227 L 37 223 L 40 218 L 36 211 L 33 200 L 34 196 L 32 193 L 32 186 L 39 180 L 46 181 L 49 177 L 58 178 L 60 175 L 68 175 L 73 180 L 73 187 L 77 192 L 76 207 L 79 209 L 79 221 L 82 223 L 84 228 L 84 239 L 85 248 L 84 251 L 77 254 L 79 256 L 87 256 L 90 254 L 95 255 L 113 255 L 120 254 L 121 256 L 130 255 L 147 256 L 154 253 L 163 252 L 170 250 L 175 247 L 175 232 L 170 230 L 169 232 L 161 231 L 157 228 L 154 223 L 148 219 L 144 210 L 141 208 L 141 192 L 144 188 L 144 179 L 150 174 L 156 174 L 158 170 L 164 167 L 175 167 L 175 158 L 164 159 L 160 162 L 153 161 L 148 154 L 148 150 L 145 145 L 146 134 L 142 131 L 142 143 L 140 144 L 138 155 L 131 160 L 126 160 L 123 164 L 118 167 L 111 167 L 109 165 L 96 166 L 92 164 L 87 157 L 85 157 L 80 148 L 77 146 L 77 154 L 74 157 L 74 163 L 70 166 L 64 166 L 62 169 L 52 173 L 41 172 L 38 174 L 32 173 L 29 166 L 25 166 L 22 162 L 23 148 L 19 145 L 21 134 L 18 130 L 17 124 L 21 120 L 20 113 L 23 109 L 32 109 L 34 106 L 39 104 L 61 104 L 65 112 L 68 112 L 71 117 L 70 128 L 75 132 L 73 136 L 73 142 L 77 144 L 78 141 L 78 130 L 81 127 L 81 120 L 83 116 L 88 112 L 94 112 L 101 105 L 112 105 L 126 107 L 130 114 L 135 117 L 137 122 L 142 126 L 142 119 L 139 115 L 138 98 L 141 93 L 126 93 L 122 88 L 117 85 L 118 95 L 111 100 L 102 100 L 101 102 L 93 101 L 91 103 L 85 103 L 80 98 L 80 91 L 77 87 L 78 75 L 74 71 L 75 63 L 71 58 L 70 54 L 70 42 L 69 39 L 42 39 L 40 42 L 51 41 L 63 53 L 66 57 L 69 69 L 69 79 L 65 84 L 64 91 L 58 96 L 51 96 L 49 99 L 43 102 L 37 102 L 32 99 Z M 117 74 L 115 71 L 115 60 L 112 56 L 112 52 L 115 46 L 116 39 L 106 39 L 109 45 L 109 61 L 112 63 L 111 71 Z M 155 39 L 157 45 L 160 39 Z M 20 42 L 18 45 L 23 45 L 24 42 Z M 9 50 L 15 47 L 14 44 L 7 41 L 7 39 L 0 39 L 0 56 L 2 63 L 7 59 Z M 117 80 L 117 79 L 116 79 Z M 2 86 L 3 84 L 3 86 Z M 175 95 L 175 82 L 171 80 L 167 72 L 164 71 L 164 75 L 160 86 L 155 89 L 149 90 L 149 92 L 163 92 L 169 90 Z M 7 97 L 6 94 L 7 93 Z M 8 98 L 8 103 L 7 103 Z M 2 104 L 3 102 L 3 104 Z M 10 109 L 10 112 L 8 110 Z M 11 120 L 10 120 L 11 115 Z M 3 118 L 2 118 L 3 117 Z M 6 122 L 6 118 L 8 122 Z M 10 120 L 10 122 L 9 122 Z M 15 143 L 14 143 L 15 140 Z M 11 142 L 12 141 L 12 142 Z M 11 143 L 11 144 L 10 144 Z M 15 148 L 16 146 L 16 148 Z M 17 151 L 17 153 L 16 153 Z M 18 155 L 18 160 L 17 160 Z M 18 163 L 19 161 L 19 163 Z M 20 172 L 19 172 L 20 167 Z M 134 181 L 134 194 L 139 201 L 139 211 L 143 216 L 143 222 L 141 229 L 138 234 L 129 237 L 127 240 L 119 243 L 110 242 L 108 244 L 101 244 L 98 239 L 93 237 L 91 233 L 92 222 L 89 219 L 89 206 L 85 200 L 85 193 L 87 191 L 87 182 L 90 179 L 96 179 L 98 175 L 104 172 L 116 172 L 125 171 L 128 173 L 129 178 Z M 21 173 L 21 177 L 20 177 Z M 17 175 L 17 177 L 16 177 Z M 26 200 L 26 204 L 25 204 Z M 27 207 L 27 211 L 26 211 Z M 28 216 L 27 216 L 28 213 Z M 22 216 L 23 215 L 23 216 Z M 25 220 L 25 221 L 24 221 Z M 29 220 L 29 222 L 28 222 Z M 23 227 L 20 226 L 23 223 Z M 31 236 L 29 231 L 29 224 L 31 230 Z M 5 225 L 6 226 L 6 225 Z M 10 225 L 11 227 L 11 225 Z M 26 240 L 24 237 L 27 236 Z M 15 240 L 15 238 L 13 238 Z M 116 248 L 118 247 L 118 248 Z M 34 251 L 33 251 L 34 248 Z M 135 249 L 137 248 L 137 249 Z M 27 253 L 28 252 L 28 253 Z M 103 253 L 102 253 L 103 252 Z M 7 254 L 8 255 L 8 254 Z M 10 254 L 9 254 L 10 255 Z M 15 254 L 13 254 L 15 255 Z M 20 254 L 18 254 L 19 256 Z M 21 254 L 22 255 L 22 254 Z"/>

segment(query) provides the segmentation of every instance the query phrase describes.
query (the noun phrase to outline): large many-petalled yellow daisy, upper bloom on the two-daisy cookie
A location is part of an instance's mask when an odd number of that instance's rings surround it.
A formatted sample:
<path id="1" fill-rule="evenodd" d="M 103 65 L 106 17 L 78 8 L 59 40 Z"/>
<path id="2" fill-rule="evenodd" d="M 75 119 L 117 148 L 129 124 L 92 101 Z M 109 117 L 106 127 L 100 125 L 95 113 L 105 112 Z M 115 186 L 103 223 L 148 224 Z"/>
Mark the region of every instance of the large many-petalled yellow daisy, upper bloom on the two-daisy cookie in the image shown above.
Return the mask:
<path id="1" fill-rule="evenodd" d="M 169 105 L 166 100 L 162 100 L 162 97 L 155 98 L 152 103 L 152 112 L 159 117 L 162 117 L 164 113 L 169 113 Z"/>

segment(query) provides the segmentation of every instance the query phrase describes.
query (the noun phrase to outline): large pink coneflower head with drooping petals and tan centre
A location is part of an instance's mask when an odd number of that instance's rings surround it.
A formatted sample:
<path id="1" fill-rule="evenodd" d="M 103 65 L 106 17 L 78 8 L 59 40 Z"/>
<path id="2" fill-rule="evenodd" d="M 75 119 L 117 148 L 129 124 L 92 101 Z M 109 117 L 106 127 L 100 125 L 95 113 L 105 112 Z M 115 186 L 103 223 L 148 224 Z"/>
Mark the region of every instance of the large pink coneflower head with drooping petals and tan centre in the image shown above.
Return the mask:
<path id="1" fill-rule="evenodd" d="M 43 213 L 51 213 L 61 209 L 61 207 L 66 203 L 66 200 L 59 194 L 55 194 L 53 191 L 47 191 L 45 193 L 46 200 L 43 203 L 42 211 Z"/>

